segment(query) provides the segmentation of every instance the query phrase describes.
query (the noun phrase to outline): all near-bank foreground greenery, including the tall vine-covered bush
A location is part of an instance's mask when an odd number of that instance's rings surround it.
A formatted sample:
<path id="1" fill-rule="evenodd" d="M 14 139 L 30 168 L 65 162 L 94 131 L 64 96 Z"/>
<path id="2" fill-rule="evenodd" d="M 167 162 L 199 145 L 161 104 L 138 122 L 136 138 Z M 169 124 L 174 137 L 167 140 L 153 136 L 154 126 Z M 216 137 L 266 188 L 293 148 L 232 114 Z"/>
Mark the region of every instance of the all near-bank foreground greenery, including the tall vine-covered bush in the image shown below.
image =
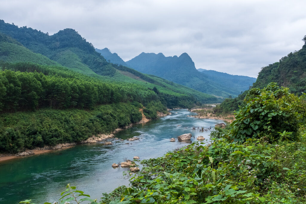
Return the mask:
<path id="1" fill-rule="evenodd" d="M 88 200 L 92 204 L 305 203 L 305 98 L 273 83 L 251 92 L 236 121 L 213 131 L 210 144 L 193 143 L 161 158 L 143 160 L 144 167 L 131 178 L 130 187 L 103 194 L 100 202 Z M 260 123 L 270 127 L 257 127 Z M 67 189 L 60 203 L 74 199 L 74 188 Z"/>

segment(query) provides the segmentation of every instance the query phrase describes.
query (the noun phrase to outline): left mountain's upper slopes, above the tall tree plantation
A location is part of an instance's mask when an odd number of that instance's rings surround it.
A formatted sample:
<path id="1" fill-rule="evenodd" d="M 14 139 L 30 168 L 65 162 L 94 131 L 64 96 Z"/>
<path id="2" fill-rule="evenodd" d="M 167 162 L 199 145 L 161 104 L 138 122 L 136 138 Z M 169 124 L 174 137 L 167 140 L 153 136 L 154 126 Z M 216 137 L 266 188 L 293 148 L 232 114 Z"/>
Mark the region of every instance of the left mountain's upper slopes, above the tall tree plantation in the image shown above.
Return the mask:
<path id="1" fill-rule="evenodd" d="M 6 62 L 35 62 L 41 65 L 64 66 L 121 88 L 127 86 L 153 90 L 155 87 L 160 96 L 163 95 L 160 98 L 165 106 L 167 103 L 168 106 L 177 106 L 178 104 L 174 104 L 183 101 L 178 106 L 187 107 L 191 101 L 201 103 L 220 101 L 214 96 L 160 77 L 112 64 L 73 29 L 66 28 L 54 35 L 48 35 L 36 29 L 26 26 L 19 28 L 0 20 L 0 33 L 2 33 L 0 43 L 5 44 L 0 47 L 0 59 Z M 176 99 L 172 100 L 172 97 Z"/>

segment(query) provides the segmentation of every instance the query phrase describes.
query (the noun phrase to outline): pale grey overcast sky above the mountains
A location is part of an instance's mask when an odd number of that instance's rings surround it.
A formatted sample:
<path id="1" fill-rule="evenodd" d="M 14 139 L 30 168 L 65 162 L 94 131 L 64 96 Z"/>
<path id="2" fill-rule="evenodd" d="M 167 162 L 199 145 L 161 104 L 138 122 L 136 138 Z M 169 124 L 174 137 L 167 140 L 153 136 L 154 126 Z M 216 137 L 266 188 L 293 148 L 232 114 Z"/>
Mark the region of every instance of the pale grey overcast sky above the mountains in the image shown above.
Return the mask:
<path id="1" fill-rule="evenodd" d="M 141 52 L 179 56 L 196 68 L 257 77 L 300 50 L 306 1 L 2 1 L 0 19 L 54 34 L 73 28 L 127 61 Z"/>

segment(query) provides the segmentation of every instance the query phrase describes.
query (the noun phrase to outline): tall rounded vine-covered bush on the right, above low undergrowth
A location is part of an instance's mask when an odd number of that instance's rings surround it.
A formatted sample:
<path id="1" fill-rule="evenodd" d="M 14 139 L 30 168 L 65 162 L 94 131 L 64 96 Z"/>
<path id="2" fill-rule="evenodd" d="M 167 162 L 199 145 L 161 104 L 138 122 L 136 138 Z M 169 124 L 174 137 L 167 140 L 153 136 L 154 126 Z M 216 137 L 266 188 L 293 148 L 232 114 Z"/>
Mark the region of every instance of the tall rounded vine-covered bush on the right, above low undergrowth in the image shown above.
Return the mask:
<path id="1" fill-rule="evenodd" d="M 304 122 L 305 114 L 303 98 L 290 94 L 288 88 L 278 88 L 276 83 L 270 83 L 262 90 L 251 89 L 245 97 L 246 106 L 241 107 L 231 124 L 232 138 L 245 141 L 265 135 L 271 142 L 298 140 L 296 132 Z M 283 131 L 293 133 L 290 137 L 280 136 L 278 132 Z"/>

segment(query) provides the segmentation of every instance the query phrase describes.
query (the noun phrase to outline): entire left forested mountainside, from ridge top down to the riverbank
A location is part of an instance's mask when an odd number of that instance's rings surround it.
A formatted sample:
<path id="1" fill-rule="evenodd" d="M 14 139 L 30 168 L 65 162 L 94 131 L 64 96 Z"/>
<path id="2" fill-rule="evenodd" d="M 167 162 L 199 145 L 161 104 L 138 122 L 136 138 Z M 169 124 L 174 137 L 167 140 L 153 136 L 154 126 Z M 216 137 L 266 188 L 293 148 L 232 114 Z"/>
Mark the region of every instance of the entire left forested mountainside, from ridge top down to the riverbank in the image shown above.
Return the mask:
<path id="1" fill-rule="evenodd" d="M 166 108 L 218 102 L 107 62 L 73 29 L 48 35 L 0 21 L 0 152 L 80 142 Z M 16 122 L 17 121 L 17 122 Z"/>

